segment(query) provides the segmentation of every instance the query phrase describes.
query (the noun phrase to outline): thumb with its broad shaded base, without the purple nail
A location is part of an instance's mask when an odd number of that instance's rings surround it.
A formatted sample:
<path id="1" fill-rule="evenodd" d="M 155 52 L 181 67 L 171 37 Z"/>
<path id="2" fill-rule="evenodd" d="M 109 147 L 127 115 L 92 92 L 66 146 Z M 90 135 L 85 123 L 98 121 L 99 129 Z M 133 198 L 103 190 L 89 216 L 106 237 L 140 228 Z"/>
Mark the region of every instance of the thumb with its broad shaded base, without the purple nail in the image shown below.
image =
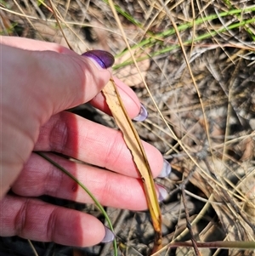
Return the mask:
<path id="1" fill-rule="evenodd" d="M 88 57 L 1 45 L 2 196 L 28 160 L 41 125 L 54 113 L 91 100 L 110 72 Z M 13 173 L 10 174 L 9 170 Z"/>

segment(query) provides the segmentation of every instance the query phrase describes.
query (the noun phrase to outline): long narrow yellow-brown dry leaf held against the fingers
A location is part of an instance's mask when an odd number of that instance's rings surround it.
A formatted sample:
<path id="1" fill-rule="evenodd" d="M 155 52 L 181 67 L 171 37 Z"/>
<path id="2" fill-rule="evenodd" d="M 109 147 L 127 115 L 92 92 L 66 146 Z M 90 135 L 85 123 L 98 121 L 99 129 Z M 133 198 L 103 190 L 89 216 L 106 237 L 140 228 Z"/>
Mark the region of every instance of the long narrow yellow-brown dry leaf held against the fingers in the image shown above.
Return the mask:
<path id="1" fill-rule="evenodd" d="M 106 84 L 105 88 L 103 88 L 102 92 L 105 95 L 106 103 L 111 110 L 111 114 L 114 117 L 116 124 L 122 130 L 127 148 L 133 156 L 133 162 L 138 168 L 139 174 L 143 181 L 145 196 L 152 219 L 152 225 L 156 232 L 155 244 L 153 248 L 153 253 L 155 253 L 161 247 L 161 210 L 157 201 L 156 189 L 150 170 L 150 164 L 145 154 L 144 146 L 139 139 L 139 134 L 133 127 L 130 117 L 127 115 L 127 111 L 122 103 L 122 99 L 112 78 Z"/>

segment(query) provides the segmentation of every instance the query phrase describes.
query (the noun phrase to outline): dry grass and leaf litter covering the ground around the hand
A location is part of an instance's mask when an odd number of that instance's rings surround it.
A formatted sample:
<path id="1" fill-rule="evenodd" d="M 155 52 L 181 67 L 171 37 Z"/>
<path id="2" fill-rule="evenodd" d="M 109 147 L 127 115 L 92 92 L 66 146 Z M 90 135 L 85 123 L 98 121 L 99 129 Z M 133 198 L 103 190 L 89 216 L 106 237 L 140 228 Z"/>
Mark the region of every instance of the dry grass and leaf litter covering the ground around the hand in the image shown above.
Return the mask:
<path id="1" fill-rule="evenodd" d="M 173 166 L 169 178 L 157 180 L 169 191 L 161 203 L 164 245 L 190 238 L 216 247 L 215 241 L 254 242 L 253 0 L 173 0 L 165 5 L 154 0 L 115 1 L 140 71 L 131 63 L 105 2 L 54 0 L 51 6 L 48 1 L 2 0 L 1 33 L 67 45 L 51 11 L 54 7 L 77 53 L 103 48 L 116 55 L 114 74 L 133 87 L 150 112 L 147 121 L 137 123 L 139 134 Z M 109 117 L 99 119 L 113 125 Z M 94 211 L 90 206 L 76 207 Z M 107 212 L 119 255 L 145 255 L 153 240 L 149 215 L 110 208 Z M 38 255 L 112 255 L 111 244 L 80 250 L 32 243 Z M 19 238 L 4 238 L 2 246 L 4 255 L 36 255 Z M 205 256 L 255 255 L 255 242 L 245 250 L 226 247 L 199 250 Z M 195 251 L 165 247 L 161 255 L 195 255 Z"/>

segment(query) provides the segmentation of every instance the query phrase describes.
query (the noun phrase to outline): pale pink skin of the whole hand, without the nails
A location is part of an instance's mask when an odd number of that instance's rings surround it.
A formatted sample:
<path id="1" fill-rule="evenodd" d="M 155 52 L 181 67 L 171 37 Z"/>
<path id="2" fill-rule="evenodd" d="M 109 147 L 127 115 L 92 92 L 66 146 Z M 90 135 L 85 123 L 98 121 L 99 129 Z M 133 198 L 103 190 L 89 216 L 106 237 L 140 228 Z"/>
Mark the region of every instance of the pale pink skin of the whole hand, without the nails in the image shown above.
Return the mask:
<path id="1" fill-rule="evenodd" d="M 54 43 L 16 37 L 0 37 L 0 43 L 0 236 L 78 247 L 97 244 L 105 236 L 98 219 L 36 198 L 49 195 L 92 202 L 35 151 L 55 151 L 93 164 L 47 153 L 103 205 L 136 211 L 147 208 L 139 173 L 122 134 L 65 111 L 90 101 L 109 113 L 100 90 L 111 71 Z M 116 84 L 129 116 L 138 116 L 136 95 L 121 81 Z M 144 148 L 156 177 L 163 166 L 161 153 L 147 143 Z M 7 194 L 10 188 L 12 193 Z"/>

